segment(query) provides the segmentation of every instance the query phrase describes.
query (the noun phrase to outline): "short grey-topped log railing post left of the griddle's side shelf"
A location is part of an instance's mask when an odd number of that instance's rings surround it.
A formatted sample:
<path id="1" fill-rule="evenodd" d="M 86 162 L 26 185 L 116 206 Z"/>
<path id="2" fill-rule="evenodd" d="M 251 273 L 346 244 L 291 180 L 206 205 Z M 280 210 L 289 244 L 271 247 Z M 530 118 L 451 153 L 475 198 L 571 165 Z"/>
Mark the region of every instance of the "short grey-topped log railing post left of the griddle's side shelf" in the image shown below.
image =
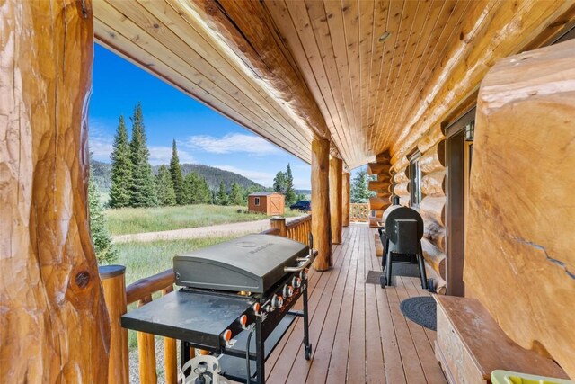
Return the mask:
<path id="1" fill-rule="evenodd" d="M 128 330 L 122 328 L 119 318 L 128 312 L 126 304 L 126 267 L 105 265 L 99 268 L 108 316 L 110 317 L 110 360 L 108 382 L 129 381 Z"/>

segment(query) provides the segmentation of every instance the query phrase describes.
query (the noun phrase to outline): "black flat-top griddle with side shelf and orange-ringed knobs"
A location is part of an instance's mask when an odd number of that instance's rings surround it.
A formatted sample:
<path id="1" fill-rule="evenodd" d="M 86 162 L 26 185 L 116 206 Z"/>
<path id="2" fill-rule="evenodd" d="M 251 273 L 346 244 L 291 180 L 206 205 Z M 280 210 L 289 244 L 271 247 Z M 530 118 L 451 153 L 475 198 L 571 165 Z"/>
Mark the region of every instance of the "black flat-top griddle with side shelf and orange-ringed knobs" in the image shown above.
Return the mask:
<path id="1" fill-rule="evenodd" d="M 197 347 L 217 356 L 222 376 L 263 383 L 264 362 L 296 317 L 303 317 L 305 359 L 311 357 L 307 267 L 312 261 L 311 236 L 305 246 L 285 237 L 248 235 L 176 256 L 173 272 L 182 288 L 129 312 L 121 323 L 181 340 L 182 364 L 190 360 L 190 347 Z M 290 310 L 301 296 L 303 310 Z"/>

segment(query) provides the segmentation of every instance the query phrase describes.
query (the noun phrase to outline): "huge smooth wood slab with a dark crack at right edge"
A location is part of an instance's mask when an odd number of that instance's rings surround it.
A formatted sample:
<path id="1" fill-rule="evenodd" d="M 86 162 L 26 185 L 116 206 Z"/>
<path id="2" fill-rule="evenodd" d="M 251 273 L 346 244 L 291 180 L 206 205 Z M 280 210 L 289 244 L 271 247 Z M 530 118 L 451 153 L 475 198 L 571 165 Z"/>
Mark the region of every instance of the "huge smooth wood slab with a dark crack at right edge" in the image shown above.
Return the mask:
<path id="1" fill-rule="evenodd" d="M 483 80 L 464 266 L 465 284 L 505 333 L 572 378 L 574 60 L 570 40 L 502 59 Z"/>

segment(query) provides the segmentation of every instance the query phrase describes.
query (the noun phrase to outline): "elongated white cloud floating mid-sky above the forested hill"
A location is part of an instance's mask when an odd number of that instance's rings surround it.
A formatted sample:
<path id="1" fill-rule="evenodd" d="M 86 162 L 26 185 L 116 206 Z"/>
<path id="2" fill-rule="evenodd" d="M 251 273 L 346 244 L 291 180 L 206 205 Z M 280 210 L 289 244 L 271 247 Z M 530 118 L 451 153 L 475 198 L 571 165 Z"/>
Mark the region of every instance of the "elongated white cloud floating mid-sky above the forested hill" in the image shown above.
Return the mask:
<path id="1" fill-rule="evenodd" d="M 223 138 L 208 135 L 191 136 L 185 144 L 215 154 L 242 152 L 264 156 L 281 153 L 278 147 L 263 138 L 243 133 L 231 133 Z"/>

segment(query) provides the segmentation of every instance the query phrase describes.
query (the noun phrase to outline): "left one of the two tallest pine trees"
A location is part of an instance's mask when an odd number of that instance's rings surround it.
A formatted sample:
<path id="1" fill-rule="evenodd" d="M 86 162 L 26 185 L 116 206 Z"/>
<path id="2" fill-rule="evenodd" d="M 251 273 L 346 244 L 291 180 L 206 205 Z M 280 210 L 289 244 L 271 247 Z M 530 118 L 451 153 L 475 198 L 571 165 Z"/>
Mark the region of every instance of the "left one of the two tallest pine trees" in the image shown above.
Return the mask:
<path id="1" fill-rule="evenodd" d="M 129 206 L 131 174 L 132 163 L 129 152 L 128 129 L 124 123 L 124 116 L 119 116 L 118 129 L 114 137 L 114 149 L 111 152 L 111 208 Z"/>

